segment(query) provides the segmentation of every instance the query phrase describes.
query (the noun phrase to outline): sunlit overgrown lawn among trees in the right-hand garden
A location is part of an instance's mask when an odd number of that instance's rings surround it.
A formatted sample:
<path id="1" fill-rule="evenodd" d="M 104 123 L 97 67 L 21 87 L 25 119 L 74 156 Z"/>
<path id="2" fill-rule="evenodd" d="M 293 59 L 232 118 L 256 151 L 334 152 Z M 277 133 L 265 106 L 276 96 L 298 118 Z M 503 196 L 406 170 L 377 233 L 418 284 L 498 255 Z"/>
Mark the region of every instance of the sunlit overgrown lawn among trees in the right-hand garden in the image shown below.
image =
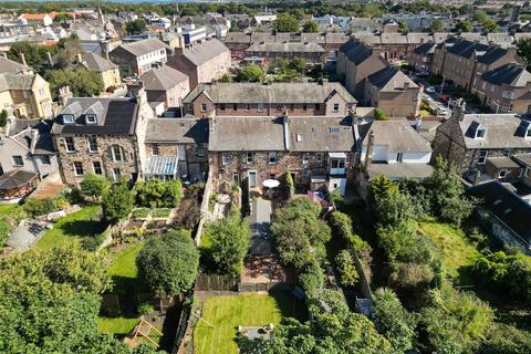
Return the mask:
<path id="1" fill-rule="evenodd" d="M 429 237 L 442 254 L 442 270 L 451 278 L 462 278 L 464 271 L 479 257 L 465 232 L 449 223 L 427 219 L 418 222 L 421 235 Z M 464 279 L 461 279 L 464 280 Z"/>

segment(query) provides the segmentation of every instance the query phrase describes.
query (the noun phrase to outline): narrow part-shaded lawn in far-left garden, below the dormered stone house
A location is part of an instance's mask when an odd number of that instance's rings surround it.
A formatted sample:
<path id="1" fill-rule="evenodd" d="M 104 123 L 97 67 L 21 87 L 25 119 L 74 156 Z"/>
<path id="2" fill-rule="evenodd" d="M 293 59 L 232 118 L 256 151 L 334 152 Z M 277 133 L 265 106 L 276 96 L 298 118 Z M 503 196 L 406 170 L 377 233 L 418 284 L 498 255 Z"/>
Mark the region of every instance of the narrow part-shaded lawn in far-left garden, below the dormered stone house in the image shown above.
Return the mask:
<path id="1" fill-rule="evenodd" d="M 100 220 L 100 206 L 88 206 L 59 219 L 53 229 L 44 232 L 37 247 L 48 250 L 60 247 L 71 239 L 82 239 L 103 232 L 106 225 Z"/>

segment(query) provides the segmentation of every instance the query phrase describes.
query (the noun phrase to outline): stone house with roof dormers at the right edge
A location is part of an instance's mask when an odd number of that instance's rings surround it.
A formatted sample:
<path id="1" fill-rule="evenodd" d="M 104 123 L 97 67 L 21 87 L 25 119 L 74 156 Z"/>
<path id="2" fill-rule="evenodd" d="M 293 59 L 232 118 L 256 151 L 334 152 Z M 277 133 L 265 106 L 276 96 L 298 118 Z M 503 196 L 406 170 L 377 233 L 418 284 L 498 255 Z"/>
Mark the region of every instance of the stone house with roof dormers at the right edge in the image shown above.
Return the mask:
<path id="1" fill-rule="evenodd" d="M 465 114 L 457 107 L 438 128 L 434 158 L 455 164 L 464 177 L 473 180 L 486 174 L 488 158 L 510 158 L 531 153 L 530 122 L 518 114 Z"/>

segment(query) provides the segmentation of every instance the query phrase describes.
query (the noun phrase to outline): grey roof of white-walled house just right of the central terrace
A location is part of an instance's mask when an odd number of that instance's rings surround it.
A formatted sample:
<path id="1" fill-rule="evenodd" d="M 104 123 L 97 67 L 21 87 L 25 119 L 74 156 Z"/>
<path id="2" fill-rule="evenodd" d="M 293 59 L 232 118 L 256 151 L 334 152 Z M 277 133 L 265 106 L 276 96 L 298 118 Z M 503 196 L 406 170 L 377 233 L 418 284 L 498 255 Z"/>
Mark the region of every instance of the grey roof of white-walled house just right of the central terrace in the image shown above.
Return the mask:
<path id="1" fill-rule="evenodd" d="M 429 143 L 408 122 L 374 121 L 358 127 L 363 146 L 367 146 L 368 133 L 374 132 L 374 145 L 387 145 L 389 153 L 430 153 Z"/>

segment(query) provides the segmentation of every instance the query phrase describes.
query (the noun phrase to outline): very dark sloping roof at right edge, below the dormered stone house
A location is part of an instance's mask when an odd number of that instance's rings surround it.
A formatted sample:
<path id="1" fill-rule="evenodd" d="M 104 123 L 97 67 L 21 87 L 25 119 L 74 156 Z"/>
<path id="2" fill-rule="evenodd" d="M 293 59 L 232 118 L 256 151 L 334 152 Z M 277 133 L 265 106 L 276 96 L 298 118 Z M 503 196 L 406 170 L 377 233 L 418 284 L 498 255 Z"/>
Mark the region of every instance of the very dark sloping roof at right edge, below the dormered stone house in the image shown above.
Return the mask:
<path id="1" fill-rule="evenodd" d="M 517 232 L 529 246 L 531 243 L 531 205 L 498 180 L 479 184 L 468 188 L 468 192 L 482 199 L 482 206 L 496 215 L 509 228 Z"/>

